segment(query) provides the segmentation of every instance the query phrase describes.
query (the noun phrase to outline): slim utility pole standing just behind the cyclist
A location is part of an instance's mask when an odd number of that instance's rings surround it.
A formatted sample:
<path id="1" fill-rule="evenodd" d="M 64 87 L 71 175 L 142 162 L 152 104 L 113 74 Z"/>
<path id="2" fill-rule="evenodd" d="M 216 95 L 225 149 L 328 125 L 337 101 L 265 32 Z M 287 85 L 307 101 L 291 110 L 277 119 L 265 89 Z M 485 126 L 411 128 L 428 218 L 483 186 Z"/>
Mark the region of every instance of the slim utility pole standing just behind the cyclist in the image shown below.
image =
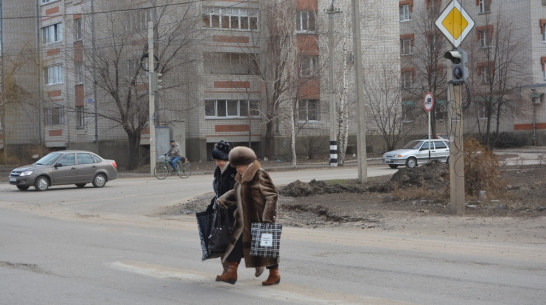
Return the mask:
<path id="1" fill-rule="evenodd" d="M 149 125 L 150 125 L 150 175 L 154 174 L 154 167 L 156 163 L 155 152 L 155 92 L 151 86 L 154 82 L 155 75 L 155 63 L 154 63 L 154 23 L 148 21 L 148 111 L 149 111 Z"/>

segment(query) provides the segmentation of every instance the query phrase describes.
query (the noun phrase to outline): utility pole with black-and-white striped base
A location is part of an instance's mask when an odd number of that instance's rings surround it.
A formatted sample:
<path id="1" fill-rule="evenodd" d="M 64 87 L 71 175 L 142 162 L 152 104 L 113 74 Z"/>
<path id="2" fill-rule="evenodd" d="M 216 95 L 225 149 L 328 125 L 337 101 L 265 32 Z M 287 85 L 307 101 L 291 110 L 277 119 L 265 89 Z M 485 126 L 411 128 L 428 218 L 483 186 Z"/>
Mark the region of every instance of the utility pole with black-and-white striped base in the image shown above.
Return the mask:
<path id="1" fill-rule="evenodd" d="M 334 14 L 340 13 L 339 8 L 334 8 L 334 0 L 330 8 L 325 10 L 328 14 L 328 52 L 330 56 L 330 69 L 329 69 L 329 80 L 328 86 L 330 91 L 330 167 L 337 166 L 337 126 L 336 121 L 336 99 L 335 99 L 335 89 L 334 89 Z"/>

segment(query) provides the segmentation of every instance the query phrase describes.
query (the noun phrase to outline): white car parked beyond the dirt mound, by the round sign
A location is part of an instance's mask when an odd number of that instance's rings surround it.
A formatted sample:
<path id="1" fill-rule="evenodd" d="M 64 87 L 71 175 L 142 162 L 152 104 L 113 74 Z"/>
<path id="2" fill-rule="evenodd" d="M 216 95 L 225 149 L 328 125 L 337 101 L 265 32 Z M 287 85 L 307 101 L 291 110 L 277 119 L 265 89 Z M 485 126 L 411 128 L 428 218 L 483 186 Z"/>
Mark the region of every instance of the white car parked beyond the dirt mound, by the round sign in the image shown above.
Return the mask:
<path id="1" fill-rule="evenodd" d="M 429 144 L 431 149 L 429 149 Z M 399 165 L 412 168 L 419 164 L 429 163 L 432 160 L 447 163 L 449 160 L 449 142 L 445 139 L 413 140 L 401 149 L 384 153 L 382 159 L 390 168 L 397 168 Z"/>

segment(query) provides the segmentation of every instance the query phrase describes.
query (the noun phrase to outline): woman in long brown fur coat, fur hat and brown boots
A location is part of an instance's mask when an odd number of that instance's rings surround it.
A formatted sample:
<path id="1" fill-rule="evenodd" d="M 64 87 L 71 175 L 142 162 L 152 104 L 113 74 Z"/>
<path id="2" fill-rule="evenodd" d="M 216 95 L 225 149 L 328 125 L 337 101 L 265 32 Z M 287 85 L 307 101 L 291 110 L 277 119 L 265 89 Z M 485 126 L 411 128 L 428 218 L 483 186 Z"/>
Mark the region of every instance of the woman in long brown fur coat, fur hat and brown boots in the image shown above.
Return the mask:
<path id="1" fill-rule="evenodd" d="M 248 147 L 238 146 L 229 153 L 229 163 L 237 170 L 235 188 L 220 198 L 220 206 L 235 205 L 235 224 L 230 244 L 222 261 L 226 261 L 232 251 L 242 250 L 245 266 L 256 268 L 256 277 L 260 276 L 264 267 L 269 269 L 269 277 L 262 282 L 264 286 L 278 284 L 281 281 L 279 258 L 250 256 L 251 233 L 253 222 L 275 223 L 277 221 L 278 192 L 269 174 L 262 169 L 254 151 Z M 216 277 L 217 281 L 235 284 L 239 262 L 230 261 L 228 271 Z"/>

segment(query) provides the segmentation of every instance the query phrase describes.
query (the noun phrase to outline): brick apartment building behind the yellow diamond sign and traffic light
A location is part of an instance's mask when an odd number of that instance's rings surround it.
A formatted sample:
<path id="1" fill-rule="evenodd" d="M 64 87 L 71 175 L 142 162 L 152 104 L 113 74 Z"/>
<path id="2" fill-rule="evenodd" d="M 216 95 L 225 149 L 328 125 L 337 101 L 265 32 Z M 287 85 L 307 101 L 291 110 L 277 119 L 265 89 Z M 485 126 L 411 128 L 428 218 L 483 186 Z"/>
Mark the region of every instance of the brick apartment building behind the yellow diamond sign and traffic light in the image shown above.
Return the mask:
<path id="1" fill-rule="evenodd" d="M 451 1 L 399 1 L 402 108 L 406 124 L 424 135 L 422 111 L 426 92 L 435 95 L 436 134 L 445 135 L 446 73 L 450 62 L 443 53 L 452 48 L 439 36 L 434 21 Z M 526 144 L 544 142 L 545 1 L 461 0 L 475 22 L 460 48 L 468 54 L 469 84 L 465 94 L 466 134 L 511 133 Z M 436 50 L 436 51 L 434 51 Z M 433 81 L 431 81 L 433 80 Z M 466 90 L 464 90 L 466 92 Z M 468 99 L 467 99 L 468 98 Z M 488 120 L 489 118 L 489 120 Z M 489 124 L 488 124 L 489 123 Z"/>

